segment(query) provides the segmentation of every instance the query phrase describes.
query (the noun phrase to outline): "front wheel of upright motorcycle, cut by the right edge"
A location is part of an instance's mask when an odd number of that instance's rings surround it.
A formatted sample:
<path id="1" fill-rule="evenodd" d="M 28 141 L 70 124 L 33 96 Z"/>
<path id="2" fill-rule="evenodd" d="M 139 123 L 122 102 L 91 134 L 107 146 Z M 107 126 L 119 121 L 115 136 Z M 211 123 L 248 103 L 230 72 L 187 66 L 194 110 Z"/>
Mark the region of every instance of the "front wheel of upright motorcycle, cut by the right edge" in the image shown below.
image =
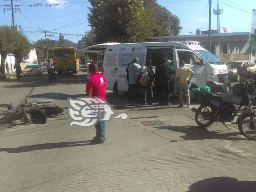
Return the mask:
<path id="1" fill-rule="evenodd" d="M 256 119 L 254 120 L 256 122 Z M 256 140 L 256 126 L 250 118 L 250 114 L 244 114 L 238 122 L 240 133 L 249 140 Z"/>

